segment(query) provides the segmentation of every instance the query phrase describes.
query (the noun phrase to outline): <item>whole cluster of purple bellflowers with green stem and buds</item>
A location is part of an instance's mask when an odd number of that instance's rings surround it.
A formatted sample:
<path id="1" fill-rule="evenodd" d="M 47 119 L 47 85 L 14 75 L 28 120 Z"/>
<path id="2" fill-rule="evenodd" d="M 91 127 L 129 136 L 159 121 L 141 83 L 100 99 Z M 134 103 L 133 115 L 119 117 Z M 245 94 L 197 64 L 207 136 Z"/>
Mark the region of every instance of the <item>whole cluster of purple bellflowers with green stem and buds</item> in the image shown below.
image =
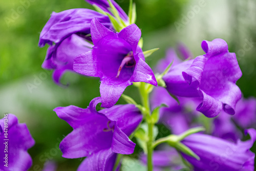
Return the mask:
<path id="1" fill-rule="evenodd" d="M 53 12 L 39 37 L 39 47 L 49 45 L 42 68 L 54 70 L 56 84 L 62 86 L 60 79 L 67 70 L 100 79 L 100 97 L 86 109 L 74 105 L 54 109 L 73 128 L 59 145 L 62 157 L 86 157 L 80 171 L 119 170 L 125 155 L 137 153 L 136 142 L 143 151 L 138 158 L 150 171 L 254 170 L 250 148 L 256 140 L 252 128 L 256 100 L 241 99 L 236 82 L 242 72 L 227 42 L 203 40 L 205 54 L 195 58 L 179 44 L 181 58 L 169 49 L 154 74 L 145 57 L 157 49 L 142 50 L 135 4 L 130 1 L 126 15 L 113 0 L 87 2 L 97 11 Z M 123 94 L 132 84 L 141 103 Z M 116 104 L 120 97 L 128 104 Z M 2 140 L 4 120 L 0 120 Z M 167 135 L 160 135 L 156 125 L 163 126 Z M 8 168 L 27 170 L 32 162 L 27 149 L 34 140 L 14 115 L 9 115 L 8 130 Z M 242 141 L 242 131 L 250 140 Z"/>

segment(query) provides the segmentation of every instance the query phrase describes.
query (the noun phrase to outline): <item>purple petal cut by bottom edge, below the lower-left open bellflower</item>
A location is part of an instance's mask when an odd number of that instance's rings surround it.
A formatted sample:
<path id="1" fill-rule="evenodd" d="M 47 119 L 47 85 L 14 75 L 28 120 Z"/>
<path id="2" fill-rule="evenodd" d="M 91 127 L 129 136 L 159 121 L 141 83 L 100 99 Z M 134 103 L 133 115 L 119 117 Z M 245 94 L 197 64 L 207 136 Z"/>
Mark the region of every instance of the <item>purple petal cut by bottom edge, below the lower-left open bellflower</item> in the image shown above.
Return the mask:
<path id="1" fill-rule="evenodd" d="M 112 171 L 116 161 L 116 154 L 111 149 L 103 149 L 83 160 L 78 171 Z"/>

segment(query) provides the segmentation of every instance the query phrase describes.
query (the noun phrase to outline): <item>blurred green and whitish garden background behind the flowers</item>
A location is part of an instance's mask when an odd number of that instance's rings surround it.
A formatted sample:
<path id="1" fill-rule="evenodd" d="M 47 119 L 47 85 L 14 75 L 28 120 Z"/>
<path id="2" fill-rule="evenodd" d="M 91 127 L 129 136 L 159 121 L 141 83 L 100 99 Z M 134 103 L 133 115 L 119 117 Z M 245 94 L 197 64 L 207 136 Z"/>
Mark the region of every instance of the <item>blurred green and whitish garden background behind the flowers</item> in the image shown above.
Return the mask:
<path id="1" fill-rule="evenodd" d="M 117 3 L 128 11 L 128 0 Z M 135 3 L 143 50 L 160 48 L 147 58 L 151 67 L 177 42 L 183 42 L 197 56 L 203 54 L 202 40 L 223 38 L 229 51 L 237 54 L 243 72 L 238 86 L 245 97 L 256 97 L 255 0 L 205 0 L 201 6 L 200 0 L 135 0 Z M 47 47 L 38 48 L 37 44 L 52 11 L 93 8 L 83 0 L 10 0 L 0 4 L 0 114 L 13 113 L 20 122 L 27 123 L 36 141 L 29 149 L 33 159 L 30 170 L 41 170 L 47 159 L 55 160 L 58 170 L 75 170 L 82 159 L 62 158 L 58 149 L 60 140 L 72 129 L 53 109 L 71 104 L 86 108 L 91 99 L 99 96 L 99 79 L 66 73 L 62 82 L 70 86 L 65 89 L 56 86 L 51 79 L 52 71 L 41 69 Z M 29 89 L 28 84 L 36 88 Z M 125 93 L 138 99 L 132 86 Z"/>

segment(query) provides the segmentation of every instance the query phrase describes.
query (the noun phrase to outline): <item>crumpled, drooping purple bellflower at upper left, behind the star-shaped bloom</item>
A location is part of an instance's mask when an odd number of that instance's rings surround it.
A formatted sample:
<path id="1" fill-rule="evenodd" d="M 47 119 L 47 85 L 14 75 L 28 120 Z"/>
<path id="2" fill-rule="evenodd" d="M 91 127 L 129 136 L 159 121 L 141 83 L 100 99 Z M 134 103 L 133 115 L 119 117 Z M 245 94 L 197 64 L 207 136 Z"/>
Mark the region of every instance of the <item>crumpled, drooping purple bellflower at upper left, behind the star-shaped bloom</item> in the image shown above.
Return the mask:
<path id="1" fill-rule="evenodd" d="M 89 9 L 70 9 L 59 13 L 53 12 L 39 37 L 39 47 L 49 44 L 42 68 L 53 69 L 53 80 L 60 84 L 61 75 L 66 70 L 73 70 L 74 57 L 89 51 L 92 44 L 84 38 L 90 33 L 90 23 L 97 17 L 106 27 L 111 28 L 110 20 L 96 11 Z"/>

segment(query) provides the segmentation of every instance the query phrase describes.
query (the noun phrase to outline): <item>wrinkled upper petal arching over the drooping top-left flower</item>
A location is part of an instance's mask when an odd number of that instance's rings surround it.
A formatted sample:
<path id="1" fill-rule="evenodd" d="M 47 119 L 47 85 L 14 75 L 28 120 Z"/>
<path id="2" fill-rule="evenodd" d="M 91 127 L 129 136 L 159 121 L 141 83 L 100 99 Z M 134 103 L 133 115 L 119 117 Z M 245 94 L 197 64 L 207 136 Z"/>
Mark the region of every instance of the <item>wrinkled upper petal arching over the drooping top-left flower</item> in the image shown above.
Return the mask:
<path id="1" fill-rule="evenodd" d="M 108 16 L 90 9 L 70 9 L 59 13 L 53 12 L 45 27 L 42 29 L 39 38 L 39 46 L 60 43 L 71 34 L 90 33 L 91 20 L 96 17 L 104 26 L 111 26 Z"/>

